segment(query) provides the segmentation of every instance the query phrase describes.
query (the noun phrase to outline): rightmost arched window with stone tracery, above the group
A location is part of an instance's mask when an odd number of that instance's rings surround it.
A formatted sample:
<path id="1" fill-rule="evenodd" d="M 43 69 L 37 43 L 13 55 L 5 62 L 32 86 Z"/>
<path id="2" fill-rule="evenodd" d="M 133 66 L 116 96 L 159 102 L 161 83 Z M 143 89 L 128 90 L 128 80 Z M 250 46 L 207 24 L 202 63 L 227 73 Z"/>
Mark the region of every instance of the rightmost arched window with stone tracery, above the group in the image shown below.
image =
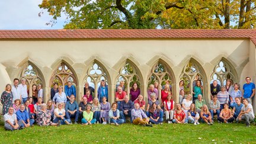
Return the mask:
<path id="1" fill-rule="evenodd" d="M 210 83 L 212 84 L 213 80 L 217 80 L 219 85 L 226 85 L 227 79 L 231 79 L 233 82 L 236 82 L 235 69 L 233 69 L 228 62 L 222 59 L 213 69 Z"/>

